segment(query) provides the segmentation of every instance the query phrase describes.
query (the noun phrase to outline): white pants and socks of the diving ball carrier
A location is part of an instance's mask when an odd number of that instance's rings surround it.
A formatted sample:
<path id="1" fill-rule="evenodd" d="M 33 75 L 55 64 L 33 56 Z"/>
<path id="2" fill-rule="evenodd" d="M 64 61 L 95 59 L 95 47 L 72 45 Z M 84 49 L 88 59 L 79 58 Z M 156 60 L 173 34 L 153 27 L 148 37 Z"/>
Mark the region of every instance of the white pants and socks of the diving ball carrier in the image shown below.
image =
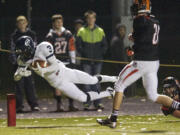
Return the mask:
<path id="1" fill-rule="evenodd" d="M 106 81 L 108 78 L 111 80 L 110 76 L 101 76 L 103 79 L 106 78 Z M 99 82 L 96 76 L 91 76 L 80 70 L 64 68 L 64 71 L 58 77 L 58 79 L 60 79 L 60 83 L 56 85 L 56 89 L 79 102 L 87 102 L 87 100 L 92 101 L 111 96 L 110 92 L 108 91 L 103 91 L 100 93 L 90 91 L 88 94 L 86 94 L 80 90 L 75 84 L 96 84 Z"/>

